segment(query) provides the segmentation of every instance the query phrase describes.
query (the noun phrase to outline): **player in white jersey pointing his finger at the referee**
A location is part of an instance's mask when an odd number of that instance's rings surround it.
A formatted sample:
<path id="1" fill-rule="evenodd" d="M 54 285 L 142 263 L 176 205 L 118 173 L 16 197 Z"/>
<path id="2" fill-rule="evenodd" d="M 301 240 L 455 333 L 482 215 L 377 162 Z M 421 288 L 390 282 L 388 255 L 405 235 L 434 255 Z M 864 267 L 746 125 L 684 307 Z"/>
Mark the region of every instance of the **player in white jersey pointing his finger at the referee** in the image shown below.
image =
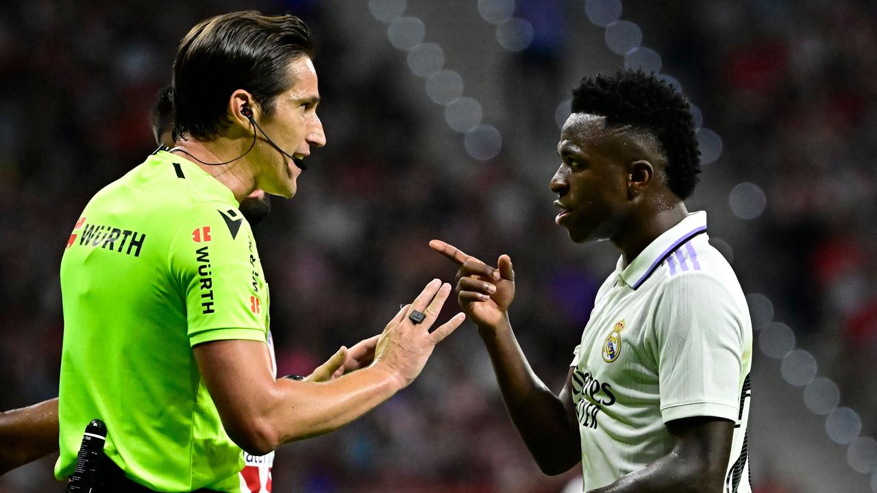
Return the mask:
<path id="1" fill-rule="evenodd" d="M 688 102 L 641 71 L 573 91 L 551 180 L 556 223 L 620 250 L 555 395 L 512 332 L 515 274 L 443 241 L 456 292 L 487 347 L 510 416 L 545 474 L 581 461 L 591 493 L 749 492 L 752 326 L 731 266 L 689 213 L 699 151 Z"/>

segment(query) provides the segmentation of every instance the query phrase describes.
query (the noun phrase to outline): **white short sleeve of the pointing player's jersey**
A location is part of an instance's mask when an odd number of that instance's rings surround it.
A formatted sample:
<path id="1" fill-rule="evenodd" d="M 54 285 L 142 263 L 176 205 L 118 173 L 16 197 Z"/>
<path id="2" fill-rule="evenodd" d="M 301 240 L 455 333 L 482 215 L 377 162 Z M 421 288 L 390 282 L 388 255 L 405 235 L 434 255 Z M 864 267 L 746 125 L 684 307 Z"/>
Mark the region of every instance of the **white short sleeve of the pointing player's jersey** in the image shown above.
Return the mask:
<path id="1" fill-rule="evenodd" d="M 675 277 L 654 313 L 663 421 L 738 418 L 743 313 L 728 287 L 702 273 Z"/>

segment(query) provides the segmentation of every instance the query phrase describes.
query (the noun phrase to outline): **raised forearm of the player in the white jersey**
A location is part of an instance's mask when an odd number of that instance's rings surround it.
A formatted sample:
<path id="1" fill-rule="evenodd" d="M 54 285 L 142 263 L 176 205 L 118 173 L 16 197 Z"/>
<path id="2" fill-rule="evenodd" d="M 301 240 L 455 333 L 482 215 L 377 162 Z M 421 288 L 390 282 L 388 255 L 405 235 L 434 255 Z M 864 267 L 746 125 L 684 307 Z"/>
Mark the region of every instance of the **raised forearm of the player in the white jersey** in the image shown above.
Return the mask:
<path id="1" fill-rule="evenodd" d="M 560 398 L 533 373 L 508 318 L 479 327 L 506 409 L 524 444 L 545 474 L 560 474 L 581 460 L 579 431 Z"/>

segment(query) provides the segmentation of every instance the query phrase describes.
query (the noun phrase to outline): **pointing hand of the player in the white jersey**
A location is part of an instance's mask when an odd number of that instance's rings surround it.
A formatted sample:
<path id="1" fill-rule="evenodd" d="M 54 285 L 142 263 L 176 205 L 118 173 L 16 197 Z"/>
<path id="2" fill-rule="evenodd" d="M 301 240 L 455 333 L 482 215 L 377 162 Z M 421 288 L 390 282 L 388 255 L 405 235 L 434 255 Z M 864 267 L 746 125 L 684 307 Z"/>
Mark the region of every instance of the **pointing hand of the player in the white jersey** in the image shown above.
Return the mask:
<path id="1" fill-rule="evenodd" d="M 515 271 L 509 255 L 500 255 L 497 268 L 492 268 L 439 239 L 430 241 L 430 248 L 460 266 L 456 288 L 460 308 L 475 325 L 496 329 L 515 299 Z"/>

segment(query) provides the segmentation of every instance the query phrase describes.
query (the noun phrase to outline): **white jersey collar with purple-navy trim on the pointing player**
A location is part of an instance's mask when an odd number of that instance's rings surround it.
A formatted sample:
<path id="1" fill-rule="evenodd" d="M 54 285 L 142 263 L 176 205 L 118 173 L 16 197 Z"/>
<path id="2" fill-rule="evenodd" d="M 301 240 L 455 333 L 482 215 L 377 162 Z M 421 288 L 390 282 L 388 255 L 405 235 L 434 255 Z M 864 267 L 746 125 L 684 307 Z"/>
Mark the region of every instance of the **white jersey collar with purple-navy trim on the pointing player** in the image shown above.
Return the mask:
<path id="1" fill-rule="evenodd" d="M 648 247 L 645 247 L 631 265 L 624 268 L 624 257 L 618 259 L 616 272 L 628 286 L 637 289 L 649 278 L 660 263 L 667 259 L 669 254 L 684 245 L 689 239 L 707 231 L 707 213 L 705 211 L 691 212 L 666 232 L 654 239 Z"/>

